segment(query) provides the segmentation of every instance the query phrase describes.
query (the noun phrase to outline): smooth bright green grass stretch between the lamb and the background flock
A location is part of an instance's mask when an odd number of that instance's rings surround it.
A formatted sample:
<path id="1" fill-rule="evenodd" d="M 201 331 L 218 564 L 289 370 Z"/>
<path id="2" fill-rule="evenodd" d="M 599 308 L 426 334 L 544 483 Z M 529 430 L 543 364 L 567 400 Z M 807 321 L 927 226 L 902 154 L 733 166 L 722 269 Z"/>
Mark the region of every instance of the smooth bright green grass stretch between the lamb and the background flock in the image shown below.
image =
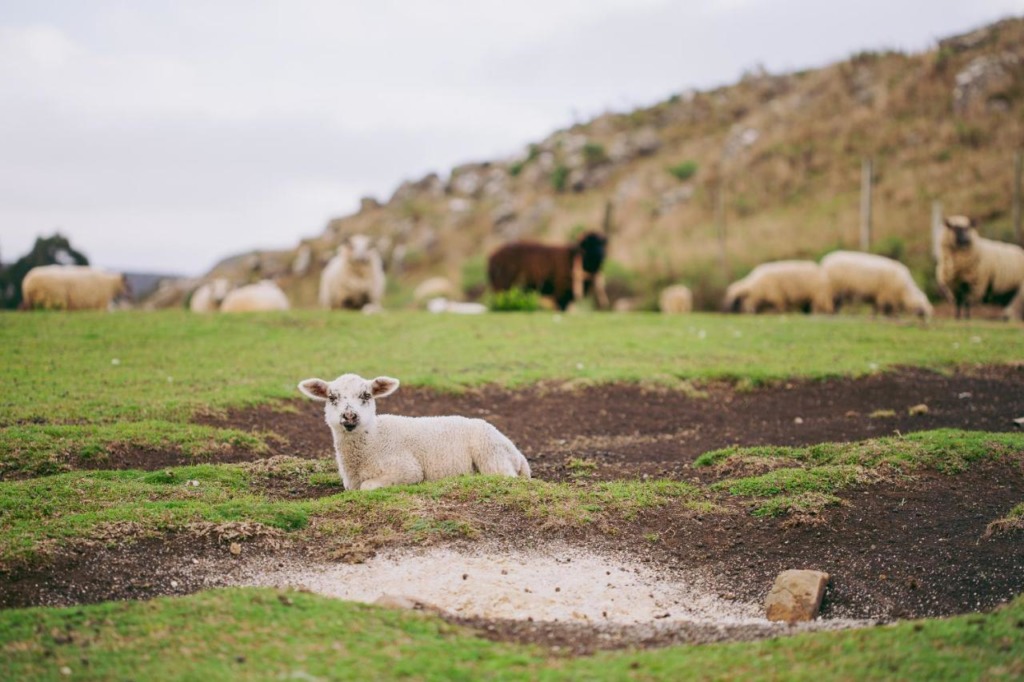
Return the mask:
<path id="1" fill-rule="evenodd" d="M 300 380 L 343 372 L 440 390 L 759 384 L 1024 357 L 1024 335 L 1005 324 L 648 313 L 2 313 L 0 346 L 0 427 L 183 422 L 197 411 L 295 398 Z"/>

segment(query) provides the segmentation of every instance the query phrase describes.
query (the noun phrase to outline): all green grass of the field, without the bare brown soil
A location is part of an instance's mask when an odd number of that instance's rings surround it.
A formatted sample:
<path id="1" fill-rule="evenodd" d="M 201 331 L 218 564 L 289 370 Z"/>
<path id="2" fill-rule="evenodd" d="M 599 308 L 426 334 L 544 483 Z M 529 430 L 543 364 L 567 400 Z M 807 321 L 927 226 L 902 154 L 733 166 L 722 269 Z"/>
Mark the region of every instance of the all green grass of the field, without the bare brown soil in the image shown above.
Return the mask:
<path id="1" fill-rule="evenodd" d="M 330 462 L 201 464 L 151 472 L 67 471 L 68 453 L 160 446 L 261 452 L 273 434 L 189 423 L 249 404 L 289 409 L 310 376 L 389 374 L 465 390 L 630 381 L 690 390 L 729 380 L 855 376 L 900 366 L 947 371 L 1019 363 L 1020 327 L 849 317 L 292 312 L 255 316 L 5 314 L 0 318 L 0 567 L 83 540 L 250 522 L 318 542 L 474 538 L 467 509 L 514 511 L 545 527 L 614 527 L 644 510 L 715 514 L 827 506 L 844 486 L 920 469 L 955 474 L 1020 457 L 1024 435 L 933 431 L 807 449 L 730 449 L 697 464 L 793 466 L 715 485 L 473 478 L 310 500 L 264 494 L 268 477 L 337 486 Z M 733 466 L 735 469 L 735 466 Z M 724 512 L 723 512 L 724 513 Z M 1014 510 L 1002 519 L 1019 523 Z M 995 520 L 995 519 L 993 519 Z M 188 628 L 180 627 L 188 622 Z M 1024 675 L 1024 601 L 995 613 L 756 644 L 562 658 L 472 637 L 443 622 L 305 594 L 218 591 L 72 609 L 0 611 L 0 679 L 978 679 Z M 67 669 L 67 670 L 66 670 Z"/>

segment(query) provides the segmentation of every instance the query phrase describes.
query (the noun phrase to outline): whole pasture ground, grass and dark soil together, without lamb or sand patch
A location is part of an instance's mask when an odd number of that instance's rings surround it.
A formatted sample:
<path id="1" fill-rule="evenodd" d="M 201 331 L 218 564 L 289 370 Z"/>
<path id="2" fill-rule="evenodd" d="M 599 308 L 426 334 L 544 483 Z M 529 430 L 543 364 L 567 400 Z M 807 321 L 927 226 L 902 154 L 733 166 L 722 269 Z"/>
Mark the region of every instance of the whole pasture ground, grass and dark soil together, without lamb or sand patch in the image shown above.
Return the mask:
<path id="1" fill-rule="evenodd" d="M 2 315 L 0 341 L 4 679 L 1024 675 L 1018 325 L 41 312 Z M 381 412 L 486 418 L 535 479 L 343 491 L 296 389 L 343 372 L 401 380 Z M 575 548 L 744 608 L 779 570 L 818 568 L 821 623 L 847 625 L 542 622 L 253 587 L 257 568 L 437 548 Z"/>

